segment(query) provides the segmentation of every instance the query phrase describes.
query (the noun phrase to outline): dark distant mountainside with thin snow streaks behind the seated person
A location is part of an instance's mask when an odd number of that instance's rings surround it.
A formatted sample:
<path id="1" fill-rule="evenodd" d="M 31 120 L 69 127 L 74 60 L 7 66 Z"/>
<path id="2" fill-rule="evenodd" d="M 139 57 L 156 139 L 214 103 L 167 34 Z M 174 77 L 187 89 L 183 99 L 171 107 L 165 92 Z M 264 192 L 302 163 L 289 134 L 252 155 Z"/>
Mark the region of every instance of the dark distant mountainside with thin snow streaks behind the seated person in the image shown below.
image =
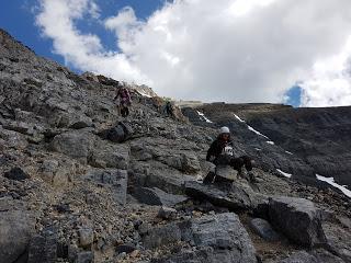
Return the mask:
<path id="1" fill-rule="evenodd" d="M 196 111 L 213 123 L 201 119 Z M 315 178 L 319 174 L 351 187 L 351 107 L 213 103 L 196 111 L 183 110 L 197 125 L 230 126 L 265 170 L 280 169 L 310 184 L 318 183 Z"/>

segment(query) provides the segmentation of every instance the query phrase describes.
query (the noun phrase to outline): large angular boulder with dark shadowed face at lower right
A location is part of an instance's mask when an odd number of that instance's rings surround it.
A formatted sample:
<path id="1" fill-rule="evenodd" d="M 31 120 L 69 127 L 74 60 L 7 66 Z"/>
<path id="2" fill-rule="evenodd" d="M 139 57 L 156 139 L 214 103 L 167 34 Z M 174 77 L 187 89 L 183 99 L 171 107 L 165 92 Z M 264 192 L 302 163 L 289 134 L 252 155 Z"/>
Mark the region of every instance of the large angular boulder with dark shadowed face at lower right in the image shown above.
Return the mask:
<path id="1" fill-rule="evenodd" d="M 269 201 L 269 217 L 275 229 L 299 245 L 310 248 L 325 243 L 321 213 L 310 201 L 272 197 Z"/>

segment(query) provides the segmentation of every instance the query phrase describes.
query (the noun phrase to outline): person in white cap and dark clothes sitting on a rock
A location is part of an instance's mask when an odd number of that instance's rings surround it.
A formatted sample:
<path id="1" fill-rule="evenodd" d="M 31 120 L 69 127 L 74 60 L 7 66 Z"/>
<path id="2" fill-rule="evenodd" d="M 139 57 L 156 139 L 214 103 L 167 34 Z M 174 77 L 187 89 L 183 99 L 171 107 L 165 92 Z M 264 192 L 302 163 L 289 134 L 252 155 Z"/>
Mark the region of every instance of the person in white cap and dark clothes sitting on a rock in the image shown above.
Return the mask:
<path id="1" fill-rule="evenodd" d="M 247 156 L 241 156 L 239 158 L 234 156 L 233 141 L 228 127 L 220 128 L 217 139 L 212 142 L 207 151 L 206 161 L 212 161 L 216 167 L 230 165 L 238 171 L 240 176 L 242 176 L 242 167 L 245 167 L 248 171 L 250 181 L 254 181 L 252 173 L 253 161 Z"/>

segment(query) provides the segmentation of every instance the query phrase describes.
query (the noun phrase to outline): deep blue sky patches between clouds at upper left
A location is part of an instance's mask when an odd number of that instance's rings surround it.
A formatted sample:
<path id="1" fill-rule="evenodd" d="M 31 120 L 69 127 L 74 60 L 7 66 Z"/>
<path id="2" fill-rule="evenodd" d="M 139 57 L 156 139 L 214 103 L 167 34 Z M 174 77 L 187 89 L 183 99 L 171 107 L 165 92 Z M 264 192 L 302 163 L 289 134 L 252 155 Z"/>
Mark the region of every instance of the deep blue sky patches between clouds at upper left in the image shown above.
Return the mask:
<path id="1" fill-rule="evenodd" d="M 103 16 L 115 15 L 124 7 L 132 7 L 136 15 L 146 20 L 157 9 L 163 5 L 165 0 L 100 0 L 99 7 Z M 35 13 L 37 0 L 10 0 L 0 4 L 0 27 L 8 31 L 18 41 L 31 47 L 37 55 L 65 64 L 63 56 L 53 53 L 53 41 L 41 35 L 39 28 L 35 25 Z M 81 21 L 77 27 L 82 32 L 93 32 L 102 39 L 104 46 L 115 48 L 115 37 L 101 30 L 97 23 Z M 79 69 L 72 67 L 72 70 Z"/>

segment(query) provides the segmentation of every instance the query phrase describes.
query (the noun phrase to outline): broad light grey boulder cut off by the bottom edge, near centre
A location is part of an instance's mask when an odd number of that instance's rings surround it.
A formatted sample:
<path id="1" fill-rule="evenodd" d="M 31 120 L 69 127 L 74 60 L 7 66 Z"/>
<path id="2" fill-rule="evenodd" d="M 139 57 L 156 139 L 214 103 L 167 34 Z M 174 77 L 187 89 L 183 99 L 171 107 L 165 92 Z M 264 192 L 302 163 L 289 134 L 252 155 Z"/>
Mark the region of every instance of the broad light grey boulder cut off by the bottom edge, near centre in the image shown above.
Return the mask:
<path id="1" fill-rule="evenodd" d="M 181 235 L 177 228 L 182 230 Z M 193 249 L 181 250 L 171 256 L 159 259 L 155 262 L 257 262 L 256 250 L 250 237 L 241 225 L 239 217 L 233 213 L 195 218 L 190 224 L 179 224 L 178 227 L 172 226 L 170 232 L 177 233 L 177 239 L 174 240 L 190 242 Z"/>

